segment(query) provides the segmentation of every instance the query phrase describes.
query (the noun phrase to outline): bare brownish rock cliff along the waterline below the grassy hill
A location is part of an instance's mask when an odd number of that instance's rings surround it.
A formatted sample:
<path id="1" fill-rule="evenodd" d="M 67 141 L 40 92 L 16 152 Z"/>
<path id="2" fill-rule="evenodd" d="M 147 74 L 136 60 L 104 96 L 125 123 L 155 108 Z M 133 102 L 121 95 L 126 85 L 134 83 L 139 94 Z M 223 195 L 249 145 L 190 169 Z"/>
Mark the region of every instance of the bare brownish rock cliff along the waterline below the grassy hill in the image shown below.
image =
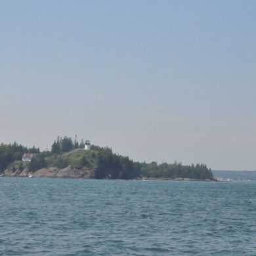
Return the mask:
<path id="1" fill-rule="evenodd" d="M 95 169 L 89 169 L 84 167 L 83 169 L 74 169 L 68 166 L 63 169 L 57 167 L 43 168 L 31 173 L 28 168 L 23 171 L 12 171 L 12 169 L 7 169 L 2 176 L 5 177 L 40 177 L 40 178 L 70 178 L 70 179 L 95 179 Z"/>

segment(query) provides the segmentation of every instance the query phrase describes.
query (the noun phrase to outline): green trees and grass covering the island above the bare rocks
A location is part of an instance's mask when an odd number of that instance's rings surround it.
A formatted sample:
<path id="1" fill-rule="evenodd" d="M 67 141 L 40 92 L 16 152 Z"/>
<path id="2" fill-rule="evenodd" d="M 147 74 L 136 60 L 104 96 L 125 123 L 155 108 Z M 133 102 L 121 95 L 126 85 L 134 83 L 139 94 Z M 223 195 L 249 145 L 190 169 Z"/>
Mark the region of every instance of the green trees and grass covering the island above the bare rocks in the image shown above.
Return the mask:
<path id="1" fill-rule="evenodd" d="M 94 169 L 96 179 L 137 179 L 140 177 L 157 179 L 213 179 L 211 169 L 204 164 L 182 165 L 181 163 L 139 163 L 127 156 L 114 154 L 111 148 L 91 146 L 84 150 L 84 142 L 73 141 L 70 137 L 57 137 L 50 151 L 39 152 L 39 148 L 26 148 L 14 144 L 0 145 L 0 172 L 7 168 L 12 171 L 22 171 L 28 168 L 30 172 L 43 167 L 71 166 L 74 169 Z M 30 162 L 22 162 L 22 154 L 30 152 L 37 155 Z"/>

